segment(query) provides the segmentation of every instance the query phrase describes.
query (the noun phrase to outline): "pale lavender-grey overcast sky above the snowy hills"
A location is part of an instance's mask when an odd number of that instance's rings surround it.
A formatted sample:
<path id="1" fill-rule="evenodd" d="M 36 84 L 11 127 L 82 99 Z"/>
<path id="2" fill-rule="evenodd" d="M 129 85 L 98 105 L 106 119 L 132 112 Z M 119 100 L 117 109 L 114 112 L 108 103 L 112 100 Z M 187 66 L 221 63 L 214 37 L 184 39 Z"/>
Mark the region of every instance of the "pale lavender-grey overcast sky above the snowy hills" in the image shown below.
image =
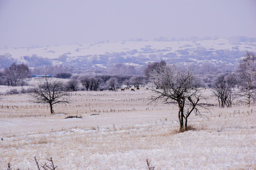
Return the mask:
<path id="1" fill-rule="evenodd" d="M 256 0 L 0 0 L 0 48 L 216 35 L 256 38 Z"/>

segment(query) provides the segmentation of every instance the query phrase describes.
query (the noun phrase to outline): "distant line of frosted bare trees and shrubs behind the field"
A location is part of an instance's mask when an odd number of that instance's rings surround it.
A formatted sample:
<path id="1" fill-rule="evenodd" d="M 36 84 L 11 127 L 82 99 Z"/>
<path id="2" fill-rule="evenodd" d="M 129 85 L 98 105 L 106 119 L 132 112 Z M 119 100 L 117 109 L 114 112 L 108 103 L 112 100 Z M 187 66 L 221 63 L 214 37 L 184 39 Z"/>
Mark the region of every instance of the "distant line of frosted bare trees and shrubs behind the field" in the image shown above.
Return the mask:
<path id="1" fill-rule="evenodd" d="M 10 58 L 8 54 L 0 57 L 3 59 Z M 29 59 L 37 59 L 37 56 L 32 56 Z M 6 60 L 4 61 L 4 64 L 8 63 Z M 113 64 L 105 73 L 88 72 L 73 75 L 73 67 L 63 65 L 39 66 L 29 69 L 27 64 L 12 63 L 0 71 L 0 85 L 23 86 L 26 85 L 25 79 L 31 77 L 31 75 L 51 74 L 57 78 L 69 79 L 63 85 L 63 89 L 66 91 L 116 90 L 121 87 L 130 88 L 131 86 L 139 88 L 149 85 L 148 82 L 152 72 L 160 74 L 166 66 L 167 63 L 164 60 L 136 68 L 125 64 Z M 200 65 L 177 64 L 175 67 L 190 68 L 195 73 L 198 85 L 212 90 L 218 99 L 219 107 L 232 107 L 234 99 L 238 97 L 241 97 L 241 101 L 246 102 L 248 106 L 256 100 L 256 55 L 252 52 L 247 52 L 237 66 L 225 63 L 215 65 L 205 61 Z M 157 88 L 163 88 L 156 82 L 154 84 Z"/>

